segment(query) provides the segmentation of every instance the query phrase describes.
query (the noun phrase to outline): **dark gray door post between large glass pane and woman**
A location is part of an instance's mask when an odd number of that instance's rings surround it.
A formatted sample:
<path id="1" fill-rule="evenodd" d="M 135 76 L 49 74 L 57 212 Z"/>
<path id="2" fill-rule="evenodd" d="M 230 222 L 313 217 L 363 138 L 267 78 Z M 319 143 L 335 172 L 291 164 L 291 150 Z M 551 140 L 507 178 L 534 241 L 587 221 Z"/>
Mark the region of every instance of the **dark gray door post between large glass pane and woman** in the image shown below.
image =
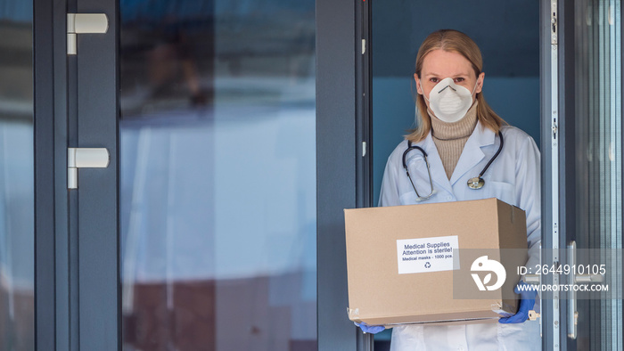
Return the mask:
<path id="1" fill-rule="evenodd" d="M 319 350 L 372 349 L 347 316 L 344 208 L 370 206 L 369 2 L 316 0 L 317 332 Z"/>

